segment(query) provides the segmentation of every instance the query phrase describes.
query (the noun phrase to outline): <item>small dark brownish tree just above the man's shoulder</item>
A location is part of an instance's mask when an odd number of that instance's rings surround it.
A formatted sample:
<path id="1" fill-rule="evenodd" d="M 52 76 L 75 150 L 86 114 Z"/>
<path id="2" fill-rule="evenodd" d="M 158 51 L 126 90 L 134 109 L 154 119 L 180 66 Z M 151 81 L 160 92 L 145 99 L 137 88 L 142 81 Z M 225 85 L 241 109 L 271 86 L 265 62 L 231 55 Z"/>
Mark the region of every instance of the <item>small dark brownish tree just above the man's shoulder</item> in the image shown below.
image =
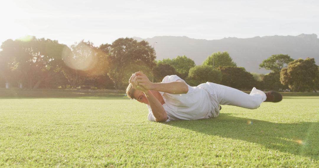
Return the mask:
<path id="1" fill-rule="evenodd" d="M 158 63 L 156 67 L 153 68 L 153 74 L 156 82 L 161 82 L 163 78 L 167 75 L 178 74 L 175 68 L 169 64 Z"/>

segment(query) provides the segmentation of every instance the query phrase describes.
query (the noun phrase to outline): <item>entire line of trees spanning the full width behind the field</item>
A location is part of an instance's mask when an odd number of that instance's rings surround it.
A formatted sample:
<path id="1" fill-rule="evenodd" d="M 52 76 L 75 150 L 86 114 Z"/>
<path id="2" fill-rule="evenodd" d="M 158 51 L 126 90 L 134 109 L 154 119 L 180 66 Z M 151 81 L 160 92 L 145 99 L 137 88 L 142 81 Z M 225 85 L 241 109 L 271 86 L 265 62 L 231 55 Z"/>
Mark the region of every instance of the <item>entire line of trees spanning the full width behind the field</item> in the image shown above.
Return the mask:
<path id="1" fill-rule="evenodd" d="M 99 47 L 80 41 L 68 47 L 56 40 L 8 39 L 0 51 L 0 87 L 5 83 L 24 88 L 123 89 L 130 75 L 145 73 L 153 82 L 177 74 L 189 85 L 214 82 L 238 89 L 258 87 L 268 90 L 316 91 L 319 69 L 315 60 L 293 60 L 288 55 L 272 55 L 259 65 L 271 70 L 263 75 L 237 67 L 227 52 L 213 53 L 202 65 L 184 56 L 156 61 L 148 42 L 120 38 Z"/>

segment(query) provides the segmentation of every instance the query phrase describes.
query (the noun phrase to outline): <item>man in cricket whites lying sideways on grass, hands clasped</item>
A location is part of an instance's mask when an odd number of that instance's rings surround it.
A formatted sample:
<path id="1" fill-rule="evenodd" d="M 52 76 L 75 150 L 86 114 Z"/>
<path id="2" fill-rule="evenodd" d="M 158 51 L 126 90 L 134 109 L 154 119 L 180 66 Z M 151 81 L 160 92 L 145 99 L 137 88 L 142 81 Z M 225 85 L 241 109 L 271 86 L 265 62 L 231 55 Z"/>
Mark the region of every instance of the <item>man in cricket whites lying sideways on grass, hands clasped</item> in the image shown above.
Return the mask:
<path id="1" fill-rule="evenodd" d="M 156 122 L 215 118 L 220 105 L 256 109 L 263 101 L 282 100 L 278 92 L 265 94 L 256 88 L 246 94 L 211 82 L 191 87 L 177 75 L 166 76 L 161 83 L 152 83 L 145 74 L 136 72 L 129 82 L 128 97 L 147 104 L 148 120 Z"/>

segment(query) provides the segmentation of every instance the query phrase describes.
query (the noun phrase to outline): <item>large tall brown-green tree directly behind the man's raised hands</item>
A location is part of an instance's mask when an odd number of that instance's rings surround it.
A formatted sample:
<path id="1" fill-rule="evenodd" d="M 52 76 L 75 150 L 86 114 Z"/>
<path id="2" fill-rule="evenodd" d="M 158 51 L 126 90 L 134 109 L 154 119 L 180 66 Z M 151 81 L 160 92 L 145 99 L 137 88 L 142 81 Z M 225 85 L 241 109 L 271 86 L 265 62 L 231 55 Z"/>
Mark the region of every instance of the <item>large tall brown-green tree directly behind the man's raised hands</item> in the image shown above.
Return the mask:
<path id="1" fill-rule="evenodd" d="M 120 38 L 111 45 L 102 44 L 99 47 L 108 55 L 108 76 L 114 82 L 115 89 L 121 89 L 128 83 L 127 76 L 131 75 L 130 67 L 147 66 L 151 70 L 155 65 L 155 51 L 148 42 L 137 42 L 132 38 Z"/>

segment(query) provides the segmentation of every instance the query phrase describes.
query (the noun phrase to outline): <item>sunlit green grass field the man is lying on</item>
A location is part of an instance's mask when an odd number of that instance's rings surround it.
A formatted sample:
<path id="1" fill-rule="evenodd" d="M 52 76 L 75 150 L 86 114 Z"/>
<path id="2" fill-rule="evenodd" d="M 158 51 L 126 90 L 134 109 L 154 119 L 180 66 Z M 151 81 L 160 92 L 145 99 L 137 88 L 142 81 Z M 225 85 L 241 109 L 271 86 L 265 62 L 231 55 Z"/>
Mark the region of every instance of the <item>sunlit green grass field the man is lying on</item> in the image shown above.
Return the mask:
<path id="1" fill-rule="evenodd" d="M 319 96 L 156 123 L 121 94 L 44 95 L 0 90 L 0 167 L 319 167 Z"/>

